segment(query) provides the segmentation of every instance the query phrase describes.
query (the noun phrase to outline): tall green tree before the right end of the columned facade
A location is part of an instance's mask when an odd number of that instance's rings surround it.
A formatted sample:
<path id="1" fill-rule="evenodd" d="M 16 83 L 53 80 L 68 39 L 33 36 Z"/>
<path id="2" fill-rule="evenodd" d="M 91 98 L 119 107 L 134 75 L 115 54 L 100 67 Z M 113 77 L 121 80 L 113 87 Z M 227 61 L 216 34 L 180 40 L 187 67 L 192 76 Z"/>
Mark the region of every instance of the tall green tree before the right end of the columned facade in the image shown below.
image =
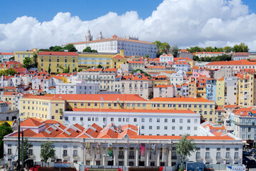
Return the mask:
<path id="1" fill-rule="evenodd" d="M 183 135 L 176 145 L 176 152 L 180 155 L 181 170 L 184 170 L 184 162 L 187 157 L 190 157 L 196 150 L 193 138 L 188 140 L 188 134 Z"/>

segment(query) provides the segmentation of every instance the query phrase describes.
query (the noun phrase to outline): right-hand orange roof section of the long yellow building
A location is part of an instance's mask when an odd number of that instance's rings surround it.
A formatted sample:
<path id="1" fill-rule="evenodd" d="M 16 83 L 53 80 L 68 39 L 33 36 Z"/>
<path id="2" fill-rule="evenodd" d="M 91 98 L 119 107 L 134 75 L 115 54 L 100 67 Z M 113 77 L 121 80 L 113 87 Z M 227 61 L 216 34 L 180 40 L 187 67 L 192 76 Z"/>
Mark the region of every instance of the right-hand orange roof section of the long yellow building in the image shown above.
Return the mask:
<path id="1" fill-rule="evenodd" d="M 152 98 L 150 101 L 173 101 L 173 102 L 211 102 L 211 100 L 207 100 L 205 98 Z"/>

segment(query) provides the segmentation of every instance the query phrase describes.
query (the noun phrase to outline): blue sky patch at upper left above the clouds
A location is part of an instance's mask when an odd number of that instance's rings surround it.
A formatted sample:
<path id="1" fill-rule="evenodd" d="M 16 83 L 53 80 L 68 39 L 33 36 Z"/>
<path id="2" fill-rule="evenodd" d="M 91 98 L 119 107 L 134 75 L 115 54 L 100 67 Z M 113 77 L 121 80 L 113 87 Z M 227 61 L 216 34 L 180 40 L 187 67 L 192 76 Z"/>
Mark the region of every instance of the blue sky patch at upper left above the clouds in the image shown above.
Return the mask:
<path id="1" fill-rule="evenodd" d="M 119 15 L 126 11 L 137 11 L 140 18 L 145 19 L 161 2 L 162 0 L 1 0 L 0 24 L 11 23 L 19 16 L 33 16 L 39 22 L 50 21 L 58 12 L 70 12 L 72 16 L 79 16 L 84 21 L 96 19 L 109 11 Z"/>

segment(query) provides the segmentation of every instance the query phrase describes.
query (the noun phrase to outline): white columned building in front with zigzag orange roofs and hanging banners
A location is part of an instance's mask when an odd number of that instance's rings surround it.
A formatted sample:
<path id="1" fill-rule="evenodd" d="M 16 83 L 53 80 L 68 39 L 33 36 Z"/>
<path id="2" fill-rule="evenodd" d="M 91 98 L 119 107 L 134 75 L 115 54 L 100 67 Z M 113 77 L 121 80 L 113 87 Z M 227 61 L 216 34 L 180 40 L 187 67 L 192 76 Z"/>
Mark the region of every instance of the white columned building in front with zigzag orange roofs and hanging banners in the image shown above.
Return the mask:
<path id="1" fill-rule="evenodd" d="M 34 126 L 31 126 L 31 125 Z M 41 162 L 41 143 L 51 141 L 55 157 L 48 161 L 63 161 L 86 167 L 98 166 L 165 166 L 166 171 L 178 169 L 180 157 L 176 145 L 180 136 L 137 135 L 134 125 L 108 125 L 106 128 L 93 124 L 88 128 L 73 125 L 69 128 L 57 122 L 39 122 L 29 118 L 21 123 L 24 137 L 31 142 L 29 158 Z M 241 164 L 242 140 L 232 135 L 191 136 L 197 149 L 186 161 L 207 164 Z M 112 155 L 108 154 L 111 147 Z M 17 131 L 4 137 L 4 161 L 15 157 Z M 125 170 L 127 170 L 126 168 Z"/>

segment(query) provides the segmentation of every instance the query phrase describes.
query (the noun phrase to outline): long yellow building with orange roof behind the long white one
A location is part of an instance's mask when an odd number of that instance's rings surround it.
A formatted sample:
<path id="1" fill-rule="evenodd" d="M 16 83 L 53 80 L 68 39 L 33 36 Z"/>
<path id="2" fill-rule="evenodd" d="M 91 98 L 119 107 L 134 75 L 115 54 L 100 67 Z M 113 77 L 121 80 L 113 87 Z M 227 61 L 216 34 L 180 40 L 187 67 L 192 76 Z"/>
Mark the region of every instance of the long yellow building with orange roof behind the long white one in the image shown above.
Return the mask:
<path id="1" fill-rule="evenodd" d="M 63 123 L 63 111 L 83 109 L 193 110 L 205 120 L 215 121 L 215 102 L 205 98 L 153 98 L 133 94 L 29 95 L 21 98 L 23 118 L 53 119 Z M 65 113 L 65 111 L 64 111 Z"/>

